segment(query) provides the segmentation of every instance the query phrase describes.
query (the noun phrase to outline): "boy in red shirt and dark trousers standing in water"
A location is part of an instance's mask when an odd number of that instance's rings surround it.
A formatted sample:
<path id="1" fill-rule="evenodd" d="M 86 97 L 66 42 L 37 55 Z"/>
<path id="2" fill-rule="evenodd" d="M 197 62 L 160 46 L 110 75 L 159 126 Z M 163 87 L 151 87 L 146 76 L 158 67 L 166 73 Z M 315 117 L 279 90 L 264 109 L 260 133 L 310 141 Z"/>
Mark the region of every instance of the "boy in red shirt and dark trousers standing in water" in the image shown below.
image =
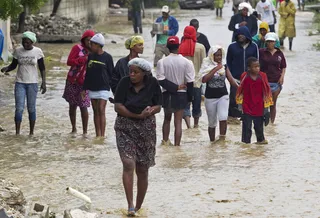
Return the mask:
<path id="1" fill-rule="evenodd" d="M 241 75 L 236 101 L 242 107 L 242 142 L 251 143 L 252 122 L 258 144 L 268 144 L 263 134 L 263 125 L 268 125 L 269 107 L 273 105 L 267 75 L 260 71 L 257 58 L 248 58 L 248 71 Z"/>

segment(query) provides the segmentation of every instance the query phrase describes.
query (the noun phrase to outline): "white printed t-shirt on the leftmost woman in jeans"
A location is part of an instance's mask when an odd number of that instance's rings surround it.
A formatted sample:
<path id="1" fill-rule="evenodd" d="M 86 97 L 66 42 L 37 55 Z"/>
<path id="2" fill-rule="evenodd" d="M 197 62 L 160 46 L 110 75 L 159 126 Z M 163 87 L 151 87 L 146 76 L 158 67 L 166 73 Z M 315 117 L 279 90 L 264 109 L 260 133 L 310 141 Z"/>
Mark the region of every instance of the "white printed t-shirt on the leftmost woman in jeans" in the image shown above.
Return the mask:
<path id="1" fill-rule="evenodd" d="M 31 50 L 19 47 L 13 52 L 13 57 L 18 60 L 16 82 L 38 83 L 37 64 L 44 57 L 42 50 L 35 46 Z"/>

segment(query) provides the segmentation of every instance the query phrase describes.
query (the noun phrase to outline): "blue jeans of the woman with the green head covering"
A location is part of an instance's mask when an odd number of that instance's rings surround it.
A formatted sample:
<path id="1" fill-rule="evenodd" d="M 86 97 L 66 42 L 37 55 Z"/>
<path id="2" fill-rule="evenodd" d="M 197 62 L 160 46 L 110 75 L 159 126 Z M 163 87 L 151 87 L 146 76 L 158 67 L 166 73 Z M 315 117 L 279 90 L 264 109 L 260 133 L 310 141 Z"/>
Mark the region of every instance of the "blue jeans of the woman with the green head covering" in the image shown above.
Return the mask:
<path id="1" fill-rule="evenodd" d="M 14 96 L 16 101 L 16 112 L 14 120 L 16 122 L 22 121 L 22 115 L 25 105 L 25 99 L 27 97 L 27 108 L 29 113 L 29 120 L 36 120 L 36 99 L 38 93 L 38 84 L 37 83 L 18 83 L 16 82 L 14 88 Z"/>

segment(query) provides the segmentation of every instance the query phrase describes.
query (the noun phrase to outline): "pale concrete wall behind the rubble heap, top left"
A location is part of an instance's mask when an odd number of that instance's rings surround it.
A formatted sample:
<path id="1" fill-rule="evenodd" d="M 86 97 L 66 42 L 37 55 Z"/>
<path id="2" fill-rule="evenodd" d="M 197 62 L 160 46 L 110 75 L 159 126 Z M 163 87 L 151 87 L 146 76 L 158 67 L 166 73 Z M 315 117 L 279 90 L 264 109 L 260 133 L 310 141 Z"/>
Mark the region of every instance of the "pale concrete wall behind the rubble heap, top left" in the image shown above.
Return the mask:
<path id="1" fill-rule="evenodd" d="M 40 9 L 40 13 L 49 16 L 54 0 L 48 0 Z M 109 0 L 62 0 L 57 12 L 58 16 L 74 19 L 86 18 L 90 23 L 104 19 L 108 13 Z"/>

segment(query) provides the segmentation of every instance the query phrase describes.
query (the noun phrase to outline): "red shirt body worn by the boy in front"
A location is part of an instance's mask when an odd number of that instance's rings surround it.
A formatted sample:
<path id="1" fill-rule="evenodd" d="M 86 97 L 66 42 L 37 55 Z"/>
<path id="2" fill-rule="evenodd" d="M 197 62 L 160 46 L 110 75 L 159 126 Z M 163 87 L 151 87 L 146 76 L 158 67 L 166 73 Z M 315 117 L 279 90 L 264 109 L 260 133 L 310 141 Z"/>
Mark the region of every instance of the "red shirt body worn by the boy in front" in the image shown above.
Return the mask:
<path id="1" fill-rule="evenodd" d="M 250 76 L 246 76 L 242 83 L 243 87 L 243 113 L 254 116 L 263 116 L 263 82 L 260 76 L 253 80 Z"/>

